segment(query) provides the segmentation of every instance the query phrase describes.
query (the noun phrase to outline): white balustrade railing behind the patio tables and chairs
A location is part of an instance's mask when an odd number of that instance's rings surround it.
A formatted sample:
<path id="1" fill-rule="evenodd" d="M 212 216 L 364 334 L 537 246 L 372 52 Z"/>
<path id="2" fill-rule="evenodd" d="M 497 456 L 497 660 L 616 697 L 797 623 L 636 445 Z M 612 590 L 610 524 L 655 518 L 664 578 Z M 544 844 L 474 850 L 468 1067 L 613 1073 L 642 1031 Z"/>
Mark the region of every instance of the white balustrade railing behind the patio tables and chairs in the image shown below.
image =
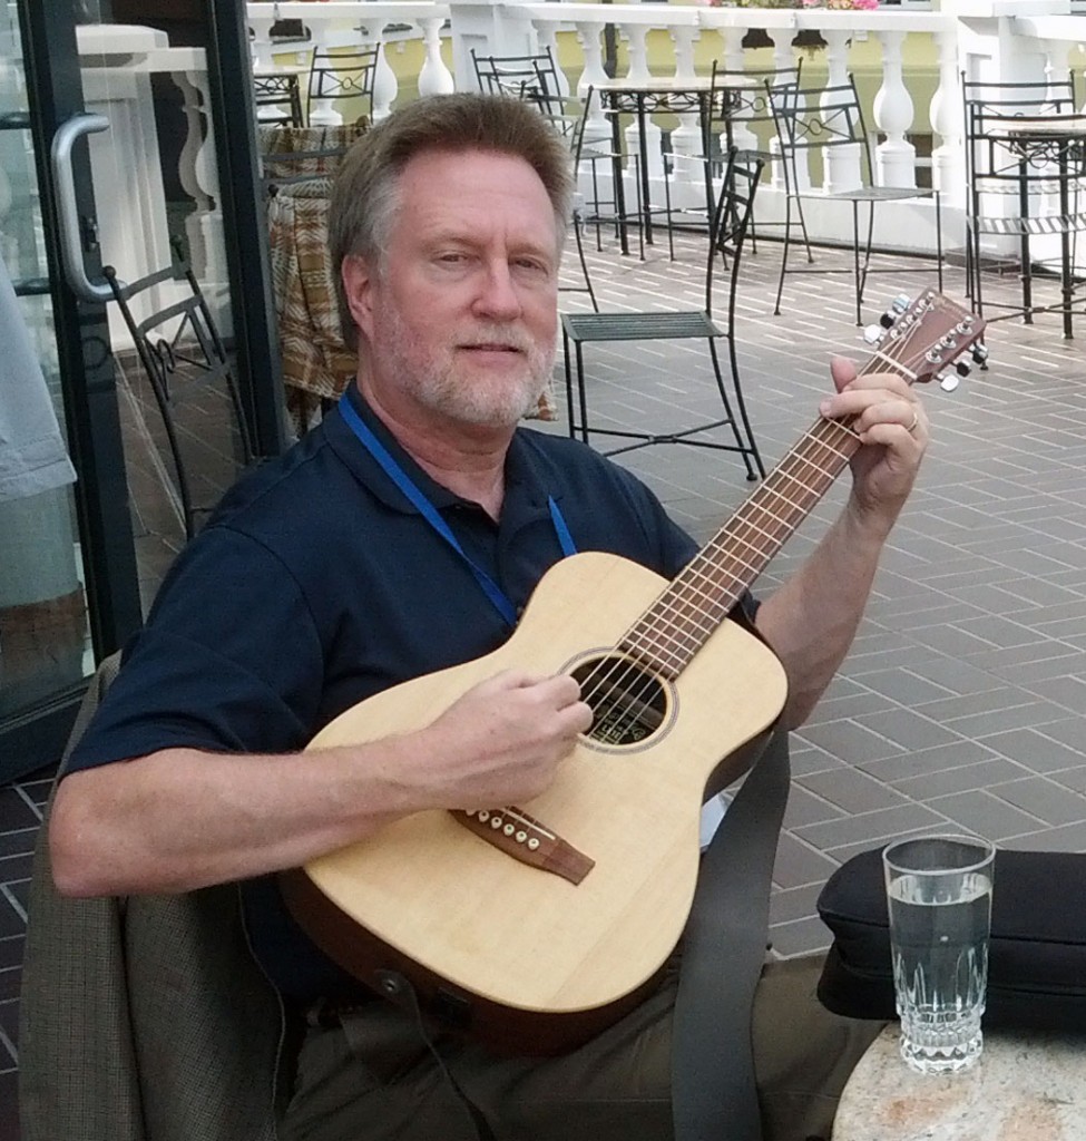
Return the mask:
<path id="1" fill-rule="evenodd" d="M 745 63 L 786 66 L 799 51 L 812 51 L 794 46 L 796 35 L 803 33 L 810 41 L 817 33 L 820 46 L 804 58 L 804 81 L 824 76 L 833 83 L 850 70 L 857 74 L 869 105 L 869 126 L 874 123 L 880 132 L 876 181 L 909 186 L 930 178 L 943 199 L 945 244 L 954 249 L 964 245 L 961 74 L 964 71 L 972 79 L 989 82 L 1045 76 L 1055 82 L 1071 72 L 1081 76 L 1086 68 L 1086 0 L 1073 3 L 1080 14 L 1073 13 L 1070 0 L 1062 0 L 1062 10 L 1061 0 L 941 0 L 939 11 L 925 10 L 921 0 L 908 0 L 870 13 L 522 0 L 261 0 L 248 3 L 246 15 L 253 32 L 253 57 L 265 65 L 299 50 L 297 62 L 305 67 L 314 47 L 378 43 L 375 119 L 415 91 L 431 95 L 473 88 L 471 48 L 519 55 L 550 47 L 569 82 L 584 90 L 605 79 L 613 64 L 617 64 L 619 75 L 638 79 L 653 72 L 680 80 L 707 73 L 714 58 L 729 68 Z M 278 23 L 282 29 L 284 21 L 308 29 L 305 43 L 273 40 L 273 26 Z M 608 27 L 610 35 L 606 34 Z M 752 31 L 760 33 L 768 47 L 745 46 Z M 194 250 L 202 251 L 202 281 L 213 285 L 220 275 L 225 277 L 225 269 L 216 256 L 221 219 L 213 164 L 208 161 L 213 140 L 203 52 L 161 49 L 154 60 L 146 58 L 139 64 L 140 72 L 155 70 L 172 73 L 185 92 L 189 137 L 180 155 L 180 177 L 196 202 L 187 228 Z M 1083 87 L 1086 84 L 1080 84 L 1080 91 Z M 325 110 L 326 121 L 334 121 L 335 113 Z M 657 144 L 660 131 L 667 131 L 674 156 L 668 187 L 672 201 L 680 205 L 704 202 L 704 171 L 682 161 L 699 141 L 696 116 L 662 116 L 649 126 L 648 151 L 650 155 L 655 151 L 656 156 L 649 164 L 653 179 L 664 177 Z M 600 116 L 590 130 L 607 136 L 609 126 Z M 915 140 L 929 131 L 931 154 L 918 156 Z M 635 131 L 627 132 L 627 141 L 635 153 Z M 602 170 L 598 173 L 602 176 Z M 825 172 L 816 168 L 813 177 L 825 178 Z M 833 177 L 848 180 L 854 173 L 842 176 L 835 169 Z M 651 189 L 655 193 L 659 187 Z M 779 172 L 763 179 L 760 217 L 770 220 L 783 207 L 783 196 Z M 812 237 L 845 240 L 849 219 L 836 215 L 832 203 L 825 203 L 821 211 L 816 201 L 807 211 Z M 883 228 L 876 243 L 917 251 L 934 249 L 933 226 L 927 224 L 932 220 L 930 207 L 922 205 L 919 211 L 911 207 L 901 216 L 888 203 L 881 215 Z M 145 240 L 149 242 L 149 237 Z M 1080 253 L 1080 259 L 1084 256 Z"/>

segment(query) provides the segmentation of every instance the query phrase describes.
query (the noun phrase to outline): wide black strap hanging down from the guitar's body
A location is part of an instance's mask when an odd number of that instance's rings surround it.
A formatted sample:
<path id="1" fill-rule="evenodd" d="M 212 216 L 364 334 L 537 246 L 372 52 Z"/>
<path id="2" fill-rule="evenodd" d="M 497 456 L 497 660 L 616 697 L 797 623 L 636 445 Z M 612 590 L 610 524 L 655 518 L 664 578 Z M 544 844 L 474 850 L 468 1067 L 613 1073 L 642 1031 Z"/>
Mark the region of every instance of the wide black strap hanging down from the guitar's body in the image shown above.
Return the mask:
<path id="1" fill-rule="evenodd" d="M 761 1141 L 751 1013 L 789 780 L 778 726 L 702 856 L 672 1029 L 675 1141 Z"/>

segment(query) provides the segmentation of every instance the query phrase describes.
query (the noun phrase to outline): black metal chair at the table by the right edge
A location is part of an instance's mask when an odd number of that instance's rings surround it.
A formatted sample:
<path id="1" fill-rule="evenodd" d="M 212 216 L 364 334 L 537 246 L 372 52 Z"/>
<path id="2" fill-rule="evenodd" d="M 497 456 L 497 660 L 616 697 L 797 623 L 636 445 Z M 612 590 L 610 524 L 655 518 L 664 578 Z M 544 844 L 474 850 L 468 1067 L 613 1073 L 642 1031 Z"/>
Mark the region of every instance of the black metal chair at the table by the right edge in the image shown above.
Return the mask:
<path id="1" fill-rule="evenodd" d="M 992 301 L 1032 324 L 1034 314 L 1059 311 L 1072 335 L 1078 233 L 1086 229 L 1086 114 L 1077 112 L 1072 79 L 983 83 L 964 81 L 966 292 L 983 314 L 982 270 L 1010 269 L 1021 280 L 1020 302 Z M 983 238 L 1006 243 L 982 249 Z M 1018 251 L 1011 252 L 1016 238 Z M 1059 252 L 1044 249 L 1054 245 Z M 1035 280 L 1059 275 L 1060 301 L 1036 305 Z M 991 319 L 989 317 L 989 319 Z M 1000 319 L 1000 318 L 996 318 Z"/>

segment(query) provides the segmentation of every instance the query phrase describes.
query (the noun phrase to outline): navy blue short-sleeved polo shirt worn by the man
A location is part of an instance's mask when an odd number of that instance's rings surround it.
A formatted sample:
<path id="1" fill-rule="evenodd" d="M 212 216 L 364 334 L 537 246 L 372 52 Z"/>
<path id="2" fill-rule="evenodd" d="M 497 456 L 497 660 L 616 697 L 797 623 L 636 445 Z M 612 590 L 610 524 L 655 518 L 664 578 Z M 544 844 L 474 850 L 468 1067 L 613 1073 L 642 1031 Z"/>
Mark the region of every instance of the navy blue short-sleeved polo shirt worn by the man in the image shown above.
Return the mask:
<path id="1" fill-rule="evenodd" d="M 430 479 L 354 389 L 350 398 L 518 608 L 562 557 L 549 496 L 577 550 L 668 578 L 697 550 L 630 472 L 527 428 L 513 436 L 495 524 Z M 487 654 L 509 632 L 337 410 L 244 477 L 178 557 L 70 771 L 169 747 L 297 751 L 349 706 Z M 287 920 L 272 880 L 251 885 L 246 903 L 254 949 L 282 990 L 308 1000 L 342 982 Z"/>

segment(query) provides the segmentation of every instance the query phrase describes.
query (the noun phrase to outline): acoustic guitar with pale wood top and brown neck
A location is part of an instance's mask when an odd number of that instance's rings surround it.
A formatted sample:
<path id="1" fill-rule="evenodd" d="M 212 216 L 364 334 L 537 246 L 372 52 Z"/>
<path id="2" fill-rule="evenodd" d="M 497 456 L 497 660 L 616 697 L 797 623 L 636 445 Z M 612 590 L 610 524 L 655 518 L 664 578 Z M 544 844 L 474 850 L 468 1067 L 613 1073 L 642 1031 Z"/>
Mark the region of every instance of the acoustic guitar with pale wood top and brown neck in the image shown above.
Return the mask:
<path id="1" fill-rule="evenodd" d="M 862 372 L 930 380 L 983 329 L 934 291 L 899 308 Z M 510 667 L 573 674 L 594 713 L 530 803 L 419 812 L 284 873 L 315 941 L 497 1049 L 562 1052 L 641 1001 L 687 921 L 702 804 L 787 696 L 729 612 L 858 447 L 848 422 L 818 420 L 671 583 L 613 555 L 562 559 L 497 650 L 327 725 L 310 748 L 408 733 Z"/>

